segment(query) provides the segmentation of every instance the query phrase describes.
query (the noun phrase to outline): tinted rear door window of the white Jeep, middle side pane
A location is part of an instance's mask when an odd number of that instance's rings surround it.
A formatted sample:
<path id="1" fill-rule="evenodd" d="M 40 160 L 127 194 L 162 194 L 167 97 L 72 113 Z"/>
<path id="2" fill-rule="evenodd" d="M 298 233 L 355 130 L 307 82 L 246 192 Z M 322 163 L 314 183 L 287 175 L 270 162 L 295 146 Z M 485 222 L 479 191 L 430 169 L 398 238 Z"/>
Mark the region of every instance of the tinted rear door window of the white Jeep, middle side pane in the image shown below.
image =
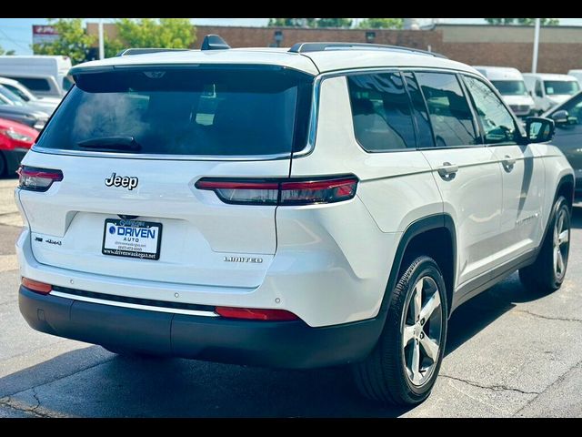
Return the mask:
<path id="1" fill-rule="evenodd" d="M 425 96 L 437 147 L 477 144 L 473 115 L 457 76 L 448 73 L 416 73 Z"/>

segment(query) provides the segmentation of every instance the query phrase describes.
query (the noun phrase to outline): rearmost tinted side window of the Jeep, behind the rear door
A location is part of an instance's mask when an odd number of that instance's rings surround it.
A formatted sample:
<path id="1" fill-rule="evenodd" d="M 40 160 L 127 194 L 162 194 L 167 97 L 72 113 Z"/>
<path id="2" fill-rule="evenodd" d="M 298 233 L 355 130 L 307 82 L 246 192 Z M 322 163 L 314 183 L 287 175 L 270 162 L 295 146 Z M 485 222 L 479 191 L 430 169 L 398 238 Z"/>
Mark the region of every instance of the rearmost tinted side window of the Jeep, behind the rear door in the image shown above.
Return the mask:
<path id="1" fill-rule="evenodd" d="M 356 139 L 369 152 L 416 147 L 410 104 L 398 73 L 347 76 Z"/>

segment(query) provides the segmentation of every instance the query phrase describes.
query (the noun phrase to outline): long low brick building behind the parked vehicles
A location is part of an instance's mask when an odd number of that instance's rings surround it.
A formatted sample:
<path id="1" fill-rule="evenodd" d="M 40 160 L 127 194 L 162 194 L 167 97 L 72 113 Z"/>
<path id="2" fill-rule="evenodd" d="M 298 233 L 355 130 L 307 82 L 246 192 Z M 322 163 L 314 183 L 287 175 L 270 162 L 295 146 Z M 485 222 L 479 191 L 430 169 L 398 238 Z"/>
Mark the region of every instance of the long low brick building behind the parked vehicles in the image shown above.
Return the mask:
<path id="1" fill-rule="evenodd" d="M 97 35 L 97 24 L 87 32 Z M 115 37 L 114 24 L 105 35 Z M 293 46 L 305 41 L 370 42 L 432 50 L 469 65 L 515 66 L 531 71 L 534 27 L 526 25 L 434 25 L 422 30 L 310 29 L 196 25 L 196 44 L 207 34 L 222 36 L 230 46 Z M 547 26 L 540 31 L 537 71 L 566 73 L 582 68 L 582 27 Z"/>

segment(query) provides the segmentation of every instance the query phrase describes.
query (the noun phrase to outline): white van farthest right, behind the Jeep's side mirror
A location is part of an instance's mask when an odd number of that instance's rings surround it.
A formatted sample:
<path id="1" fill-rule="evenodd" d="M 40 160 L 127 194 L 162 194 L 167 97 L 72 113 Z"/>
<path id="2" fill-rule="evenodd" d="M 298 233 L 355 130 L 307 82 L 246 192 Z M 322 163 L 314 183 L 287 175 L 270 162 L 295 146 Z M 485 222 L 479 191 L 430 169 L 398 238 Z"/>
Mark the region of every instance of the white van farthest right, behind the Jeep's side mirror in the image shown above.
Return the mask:
<path id="1" fill-rule="evenodd" d="M 564 103 L 580 91 L 580 84 L 574 76 L 545 73 L 524 73 L 523 76 L 539 113 Z"/>

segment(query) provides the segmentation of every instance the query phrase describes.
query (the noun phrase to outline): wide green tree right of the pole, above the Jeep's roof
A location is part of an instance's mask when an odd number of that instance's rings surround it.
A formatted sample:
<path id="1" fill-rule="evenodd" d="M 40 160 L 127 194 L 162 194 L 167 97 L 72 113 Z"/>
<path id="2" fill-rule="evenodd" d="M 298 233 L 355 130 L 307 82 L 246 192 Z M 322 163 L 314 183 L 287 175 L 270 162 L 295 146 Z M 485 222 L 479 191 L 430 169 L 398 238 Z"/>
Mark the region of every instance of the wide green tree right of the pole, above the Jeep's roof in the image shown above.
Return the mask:
<path id="1" fill-rule="evenodd" d="M 110 47 L 189 48 L 196 42 L 196 28 L 188 18 L 121 18 L 115 24 L 119 42 L 110 41 Z"/>

